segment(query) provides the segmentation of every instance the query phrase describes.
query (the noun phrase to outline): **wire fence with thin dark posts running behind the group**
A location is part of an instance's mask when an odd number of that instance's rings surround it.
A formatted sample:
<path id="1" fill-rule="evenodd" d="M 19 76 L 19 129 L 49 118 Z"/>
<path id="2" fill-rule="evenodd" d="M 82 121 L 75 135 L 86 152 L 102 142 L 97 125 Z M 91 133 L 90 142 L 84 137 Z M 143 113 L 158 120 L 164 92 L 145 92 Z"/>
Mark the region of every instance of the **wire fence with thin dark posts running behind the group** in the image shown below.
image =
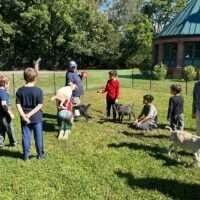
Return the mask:
<path id="1" fill-rule="evenodd" d="M 87 76 L 82 78 L 84 90 L 97 90 L 105 88 L 109 70 L 88 70 Z M 24 85 L 23 72 L 1 72 L 10 78 L 10 95 L 15 96 L 19 87 Z M 36 86 L 40 87 L 44 95 L 55 93 L 65 85 L 66 71 L 40 71 Z M 186 82 L 178 79 L 153 80 L 151 72 L 141 73 L 139 70 L 118 70 L 118 80 L 121 88 L 134 88 L 139 90 L 170 92 L 170 85 L 178 83 L 182 86 L 182 94 L 192 95 L 194 81 Z"/>

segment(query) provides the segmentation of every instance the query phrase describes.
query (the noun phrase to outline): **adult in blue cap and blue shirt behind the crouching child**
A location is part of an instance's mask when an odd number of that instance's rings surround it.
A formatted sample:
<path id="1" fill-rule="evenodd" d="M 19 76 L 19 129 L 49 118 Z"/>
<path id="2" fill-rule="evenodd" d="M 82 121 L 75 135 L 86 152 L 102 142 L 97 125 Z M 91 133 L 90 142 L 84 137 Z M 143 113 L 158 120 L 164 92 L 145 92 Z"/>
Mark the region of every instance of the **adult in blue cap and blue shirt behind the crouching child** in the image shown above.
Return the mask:
<path id="1" fill-rule="evenodd" d="M 81 102 L 81 96 L 84 95 L 84 91 L 81 78 L 77 73 L 77 64 L 73 60 L 69 62 L 67 68 L 65 86 L 67 86 L 70 82 L 76 84 L 77 86 L 77 88 L 72 92 L 72 103 L 73 105 L 79 105 Z"/>

